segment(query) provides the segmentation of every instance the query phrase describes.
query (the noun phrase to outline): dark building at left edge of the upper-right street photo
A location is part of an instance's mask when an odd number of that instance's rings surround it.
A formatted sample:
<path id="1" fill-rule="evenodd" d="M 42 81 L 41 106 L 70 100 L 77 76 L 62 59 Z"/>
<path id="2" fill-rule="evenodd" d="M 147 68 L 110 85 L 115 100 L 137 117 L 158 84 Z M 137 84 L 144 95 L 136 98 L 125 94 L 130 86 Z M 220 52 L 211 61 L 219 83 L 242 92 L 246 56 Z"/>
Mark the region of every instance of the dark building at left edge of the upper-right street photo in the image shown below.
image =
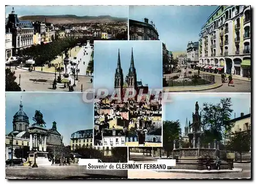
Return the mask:
<path id="1" fill-rule="evenodd" d="M 144 18 L 144 22 L 137 20 L 129 20 L 129 40 L 159 40 L 159 35 L 153 21 L 148 23 L 148 19 Z"/>

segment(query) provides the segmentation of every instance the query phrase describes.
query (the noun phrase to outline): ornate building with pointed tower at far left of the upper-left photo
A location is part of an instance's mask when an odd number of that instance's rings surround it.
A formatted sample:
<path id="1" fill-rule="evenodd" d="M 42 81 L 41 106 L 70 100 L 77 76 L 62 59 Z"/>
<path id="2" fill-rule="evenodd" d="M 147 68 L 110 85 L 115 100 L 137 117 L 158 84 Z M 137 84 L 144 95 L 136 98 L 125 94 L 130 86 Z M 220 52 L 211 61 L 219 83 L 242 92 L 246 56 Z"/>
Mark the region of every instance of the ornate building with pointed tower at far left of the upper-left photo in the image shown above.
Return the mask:
<path id="1" fill-rule="evenodd" d="M 8 16 L 6 23 L 6 32 L 12 33 L 12 46 L 13 53 L 16 53 L 18 49 L 30 47 L 33 45 L 34 28 L 31 21 L 19 20 L 17 14 L 12 12 Z"/>

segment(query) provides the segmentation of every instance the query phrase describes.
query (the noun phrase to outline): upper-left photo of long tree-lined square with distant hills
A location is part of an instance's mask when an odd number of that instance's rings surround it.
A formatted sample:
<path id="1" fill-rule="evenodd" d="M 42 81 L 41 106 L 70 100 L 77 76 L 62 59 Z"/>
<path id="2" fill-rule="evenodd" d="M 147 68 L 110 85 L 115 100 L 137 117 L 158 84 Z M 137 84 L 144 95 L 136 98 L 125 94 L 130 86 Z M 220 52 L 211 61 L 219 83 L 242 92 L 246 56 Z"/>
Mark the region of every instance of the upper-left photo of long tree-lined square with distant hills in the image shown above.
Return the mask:
<path id="1" fill-rule="evenodd" d="M 6 91 L 93 88 L 94 40 L 127 40 L 128 8 L 6 6 Z"/>

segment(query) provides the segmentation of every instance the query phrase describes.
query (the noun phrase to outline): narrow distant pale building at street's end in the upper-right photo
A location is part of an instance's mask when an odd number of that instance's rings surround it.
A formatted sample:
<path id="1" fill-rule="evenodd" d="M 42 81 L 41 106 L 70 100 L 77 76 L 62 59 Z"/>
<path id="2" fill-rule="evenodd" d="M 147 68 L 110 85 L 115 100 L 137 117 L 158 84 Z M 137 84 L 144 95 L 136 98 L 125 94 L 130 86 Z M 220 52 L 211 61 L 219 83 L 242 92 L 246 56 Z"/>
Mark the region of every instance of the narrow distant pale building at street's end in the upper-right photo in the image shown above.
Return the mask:
<path id="1" fill-rule="evenodd" d="M 199 63 L 199 42 L 188 42 L 187 44 L 187 66 L 194 68 Z"/>

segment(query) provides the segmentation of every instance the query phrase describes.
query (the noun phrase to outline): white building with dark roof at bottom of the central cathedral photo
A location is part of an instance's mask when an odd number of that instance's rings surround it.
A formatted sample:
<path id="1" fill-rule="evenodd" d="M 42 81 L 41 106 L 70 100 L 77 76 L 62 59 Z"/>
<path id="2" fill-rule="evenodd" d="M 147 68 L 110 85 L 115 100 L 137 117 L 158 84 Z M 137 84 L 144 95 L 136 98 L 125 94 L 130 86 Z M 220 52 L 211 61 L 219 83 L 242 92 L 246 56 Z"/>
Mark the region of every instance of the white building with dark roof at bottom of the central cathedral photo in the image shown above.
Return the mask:
<path id="1" fill-rule="evenodd" d="M 101 146 L 125 146 L 125 134 L 122 129 L 102 129 Z"/>

